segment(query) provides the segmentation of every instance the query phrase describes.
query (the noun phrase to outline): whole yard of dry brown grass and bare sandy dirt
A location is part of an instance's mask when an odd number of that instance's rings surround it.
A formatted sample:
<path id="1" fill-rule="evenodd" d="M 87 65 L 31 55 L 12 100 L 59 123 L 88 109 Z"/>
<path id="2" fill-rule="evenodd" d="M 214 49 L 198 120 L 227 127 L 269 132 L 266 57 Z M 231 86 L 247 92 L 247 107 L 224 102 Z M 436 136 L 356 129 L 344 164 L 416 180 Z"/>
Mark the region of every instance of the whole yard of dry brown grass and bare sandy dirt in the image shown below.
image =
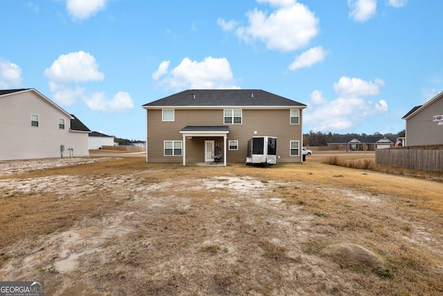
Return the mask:
<path id="1" fill-rule="evenodd" d="M 442 295 L 443 183 L 308 161 L 0 162 L 0 280 L 45 295 Z"/>

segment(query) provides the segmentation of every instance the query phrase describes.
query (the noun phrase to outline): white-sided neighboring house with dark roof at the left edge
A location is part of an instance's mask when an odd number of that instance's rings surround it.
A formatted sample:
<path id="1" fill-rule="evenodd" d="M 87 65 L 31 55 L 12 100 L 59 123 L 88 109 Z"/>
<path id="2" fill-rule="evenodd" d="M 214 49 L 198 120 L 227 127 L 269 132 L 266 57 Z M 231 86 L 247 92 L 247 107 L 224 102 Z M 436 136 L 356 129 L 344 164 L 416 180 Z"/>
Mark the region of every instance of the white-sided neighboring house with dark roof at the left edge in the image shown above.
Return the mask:
<path id="1" fill-rule="evenodd" d="M 0 161 L 89 156 L 89 132 L 35 89 L 0 90 Z"/>

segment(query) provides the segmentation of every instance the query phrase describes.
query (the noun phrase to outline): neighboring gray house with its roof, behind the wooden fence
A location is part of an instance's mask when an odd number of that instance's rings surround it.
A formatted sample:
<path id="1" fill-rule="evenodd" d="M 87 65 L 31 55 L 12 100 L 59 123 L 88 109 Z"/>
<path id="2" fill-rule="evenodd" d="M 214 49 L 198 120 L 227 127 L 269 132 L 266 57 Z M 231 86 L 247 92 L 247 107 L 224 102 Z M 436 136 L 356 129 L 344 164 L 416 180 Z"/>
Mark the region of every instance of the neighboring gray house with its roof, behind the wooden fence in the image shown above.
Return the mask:
<path id="1" fill-rule="evenodd" d="M 443 92 L 413 107 L 406 120 L 406 146 L 443 144 Z"/>

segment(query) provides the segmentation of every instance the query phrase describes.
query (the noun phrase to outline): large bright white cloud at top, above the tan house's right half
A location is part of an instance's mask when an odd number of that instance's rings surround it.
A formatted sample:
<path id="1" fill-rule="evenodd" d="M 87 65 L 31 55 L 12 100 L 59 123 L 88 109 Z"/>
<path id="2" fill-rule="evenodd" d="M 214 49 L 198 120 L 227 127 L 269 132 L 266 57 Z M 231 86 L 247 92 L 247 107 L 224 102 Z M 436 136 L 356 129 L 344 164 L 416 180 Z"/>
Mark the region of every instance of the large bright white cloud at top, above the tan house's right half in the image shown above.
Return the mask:
<path id="1" fill-rule="evenodd" d="M 270 15 L 257 9 L 246 12 L 248 26 L 240 26 L 236 31 L 245 42 L 260 40 L 268 49 L 294 51 L 307 46 L 320 32 L 318 18 L 307 6 L 296 1 L 265 2 L 279 7 Z"/>

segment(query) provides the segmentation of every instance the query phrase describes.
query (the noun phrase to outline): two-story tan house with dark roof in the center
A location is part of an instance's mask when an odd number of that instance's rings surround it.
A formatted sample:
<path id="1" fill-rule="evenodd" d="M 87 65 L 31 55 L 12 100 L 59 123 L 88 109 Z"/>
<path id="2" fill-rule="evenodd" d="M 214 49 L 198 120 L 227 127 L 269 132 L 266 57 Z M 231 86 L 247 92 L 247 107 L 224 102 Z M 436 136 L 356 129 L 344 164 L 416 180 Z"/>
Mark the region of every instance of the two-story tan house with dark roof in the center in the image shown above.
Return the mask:
<path id="1" fill-rule="evenodd" d="M 147 162 L 245 162 L 253 137 L 276 137 L 277 162 L 302 162 L 307 107 L 261 89 L 188 89 L 142 106 Z"/>

